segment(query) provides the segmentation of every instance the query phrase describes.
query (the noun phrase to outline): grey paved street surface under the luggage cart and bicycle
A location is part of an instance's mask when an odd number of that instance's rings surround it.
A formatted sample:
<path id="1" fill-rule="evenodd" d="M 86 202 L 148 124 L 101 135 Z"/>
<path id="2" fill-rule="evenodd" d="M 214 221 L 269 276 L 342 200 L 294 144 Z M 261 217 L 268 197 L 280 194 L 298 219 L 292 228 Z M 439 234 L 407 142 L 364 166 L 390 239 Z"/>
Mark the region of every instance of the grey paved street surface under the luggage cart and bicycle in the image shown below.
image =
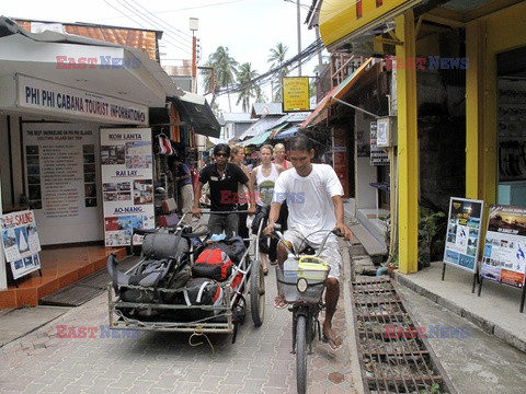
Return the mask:
<path id="1" fill-rule="evenodd" d="M 348 253 L 347 253 L 348 256 Z M 339 351 L 317 343 L 309 356 L 309 393 L 359 393 L 351 308 L 348 263 L 344 268 L 334 327 L 346 340 Z M 291 349 L 291 314 L 276 310 L 275 273 L 266 277 L 264 323 L 255 328 L 250 312 L 236 344 L 225 335 L 140 332 L 138 338 L 101 338 L 107 325 L 107 297 L 101 294 L 42 325 L 41 306 L 24 313 L 25 322 L 0 316 L 2 326 L 23 324 L 27 335 L 0 349 L 2 393 L 294 393 L 296 359 Z M 33 311 L 34 316 L 31 316 Z M 52 316 L 53 317 L 53 316 Z M 94 338 L 59 338 L 57 326 L 96 327 Z M 36 328 L 33 331 L 33 328 Z M 60 333 L 59 328 L 59 333 Z M 361 387 L 361 385 L 358 385 Z"/>

